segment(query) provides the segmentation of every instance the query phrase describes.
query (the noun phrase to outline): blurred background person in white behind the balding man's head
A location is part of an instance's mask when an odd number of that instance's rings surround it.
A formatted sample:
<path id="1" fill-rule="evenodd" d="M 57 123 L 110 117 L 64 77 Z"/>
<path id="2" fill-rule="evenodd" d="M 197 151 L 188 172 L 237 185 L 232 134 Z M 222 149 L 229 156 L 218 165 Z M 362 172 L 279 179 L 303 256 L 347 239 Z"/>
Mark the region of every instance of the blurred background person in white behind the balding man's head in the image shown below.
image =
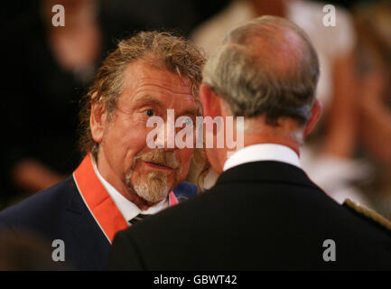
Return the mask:
<path id="1" fill-rule="evenodd" d="M 321 63 L 317 98 L 321 100 L 321 124 L 303 146 L 304 171 L 333 199 L 346 198 L 370 206 L 352 184 L 368 178 L 370 169 L 352 157 L 357 141 L 357 91 L 354 78 L 356 35 L 347 11 L 336 7 L 336 27 L 323 25 L 326 3 L 302 0 L 234 0 L 223 11 L 192 33 L 194 42 L 207 53 L 218 46 L 231 28 L 259 15 L 285 17 L 309 35 Z M 210 186 L 217 174 L 209 174 Z"/>

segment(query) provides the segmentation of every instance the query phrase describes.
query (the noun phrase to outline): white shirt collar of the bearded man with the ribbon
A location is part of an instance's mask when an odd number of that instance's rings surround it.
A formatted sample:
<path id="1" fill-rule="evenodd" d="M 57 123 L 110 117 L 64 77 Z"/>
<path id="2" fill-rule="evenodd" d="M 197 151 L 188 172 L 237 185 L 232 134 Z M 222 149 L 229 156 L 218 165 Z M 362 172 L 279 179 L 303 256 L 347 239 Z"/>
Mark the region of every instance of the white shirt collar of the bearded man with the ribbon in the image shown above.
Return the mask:
<path id="1" fill-rule="evenodd" d="M 147 210 L 140 210 L 133 202 L 127 200 L 121 193 L 116 191 L 116 189 L 102 177 L 102 175 L 98 171 L 98 167 L 97 164 L 95 163 L 95 160 L 93 158 L 91 159 L 92 159 L 92 165 L 94 166 L 94 171 L 95 173 L 97 173 L 99 181 L 102 182 L 106 191 L 110 195 L 111 199 L 114 200 L 116 207 L 124 216 L 126 221 L 135 218 L 135 216 L 137 216 L 138 214 L 153 215 L 169 207 L 168 197 L 167 197 L 164 200 L 161 200 L 160 202 L 155 204 L 154 206 L 149 207 Z"/>

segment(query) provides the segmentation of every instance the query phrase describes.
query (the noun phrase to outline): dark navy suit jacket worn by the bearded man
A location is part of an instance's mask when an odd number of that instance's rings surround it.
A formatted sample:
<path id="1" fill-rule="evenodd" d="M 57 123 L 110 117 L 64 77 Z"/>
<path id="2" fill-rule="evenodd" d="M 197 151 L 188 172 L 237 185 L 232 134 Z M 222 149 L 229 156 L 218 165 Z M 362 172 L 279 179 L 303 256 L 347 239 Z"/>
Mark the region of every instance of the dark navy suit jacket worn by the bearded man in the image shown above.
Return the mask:
<path id="1" fill-rule="evenodd" d="M 173 192 L 182 201 L 196 195 L 197 187 L 181 182 Z M 63 240 L 65 261 L 77 270 L 107 267 L 110 243 L 82 200 L 72 177 L 1 211 L 0 228 L 16 234 L 21 229 L 32 231 L 50 244 L 54 239 Z"/>

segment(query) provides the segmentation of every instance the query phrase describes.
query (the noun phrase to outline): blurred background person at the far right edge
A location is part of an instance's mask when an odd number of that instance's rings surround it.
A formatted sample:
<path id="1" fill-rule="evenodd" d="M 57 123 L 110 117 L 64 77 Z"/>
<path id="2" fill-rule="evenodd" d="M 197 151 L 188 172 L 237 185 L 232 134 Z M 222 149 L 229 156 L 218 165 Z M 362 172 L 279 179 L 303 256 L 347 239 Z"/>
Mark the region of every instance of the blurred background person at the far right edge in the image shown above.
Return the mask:
<path id="1" fill-rule="evenodd" d="M 358 34 L 358 154 L 375 170 L 362 188 L 391 219 L 391 3 L 363 2 L 354 7 L 353 16 Z"/>

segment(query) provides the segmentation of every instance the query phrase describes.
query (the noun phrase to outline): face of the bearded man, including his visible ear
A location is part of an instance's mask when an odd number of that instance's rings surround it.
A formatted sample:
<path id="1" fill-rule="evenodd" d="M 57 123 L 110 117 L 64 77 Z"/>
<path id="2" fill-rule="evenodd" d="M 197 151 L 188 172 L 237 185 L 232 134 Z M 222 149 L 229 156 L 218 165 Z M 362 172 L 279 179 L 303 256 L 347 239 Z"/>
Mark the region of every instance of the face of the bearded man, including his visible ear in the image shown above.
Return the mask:
<path id="1" fill-rule="evenodd" d="M 195 119 L 197 107 L 189 79 L 155 69 L 143 60 L 135 61 L 124 72 L 113 116 L 107 121 L 107 112 L 99 109 L 92 109 L 91 115 L 98 121 L 91 122 L 91 132 L 99 144 L 102 176 L 132 201 L 134 195 L 148 204 L 166 198 L 189 172 L 193 149 L 167 148 L 166 138 L 164 148 L 148 147 L 147 135 L 154 127 L 146 124 L 149 117 L 163 118 L 166 137 L 171 129 L 167 109 L 173 109 L 175 117 Z"/>

